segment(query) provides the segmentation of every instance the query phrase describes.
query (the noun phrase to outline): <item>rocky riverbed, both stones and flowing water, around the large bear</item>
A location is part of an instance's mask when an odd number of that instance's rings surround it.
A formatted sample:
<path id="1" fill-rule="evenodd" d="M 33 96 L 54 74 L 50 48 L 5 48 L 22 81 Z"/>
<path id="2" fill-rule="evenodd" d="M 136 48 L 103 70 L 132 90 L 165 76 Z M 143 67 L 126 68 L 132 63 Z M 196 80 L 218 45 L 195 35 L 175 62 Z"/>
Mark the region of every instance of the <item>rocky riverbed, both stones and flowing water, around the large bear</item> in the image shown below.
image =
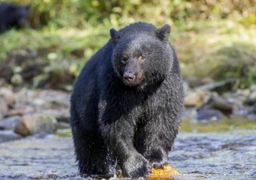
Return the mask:
<path id="1" fill-rule="evenodd" d="M 177 179 L 256 178 L 256 85 L 236 83 L 184 82 L 184 122 L 169 154 Z M 70 93 L 0 85 L 0 179 L 104 178 L 77 171 Z"/>

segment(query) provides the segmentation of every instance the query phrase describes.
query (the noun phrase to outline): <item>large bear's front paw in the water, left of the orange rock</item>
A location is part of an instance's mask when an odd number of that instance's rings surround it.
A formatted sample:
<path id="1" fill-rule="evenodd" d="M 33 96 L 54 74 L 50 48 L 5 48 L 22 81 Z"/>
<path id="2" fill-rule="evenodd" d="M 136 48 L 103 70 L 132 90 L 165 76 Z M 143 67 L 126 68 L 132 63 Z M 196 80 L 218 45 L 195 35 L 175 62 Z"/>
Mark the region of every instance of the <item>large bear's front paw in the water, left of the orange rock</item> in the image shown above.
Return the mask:
<path id="1" fill-rule="evenodd" d="M 142 155 L 135 155 L 125 161 L 123 174 L 131 178 L 149 177 L 152 166 Z"/>

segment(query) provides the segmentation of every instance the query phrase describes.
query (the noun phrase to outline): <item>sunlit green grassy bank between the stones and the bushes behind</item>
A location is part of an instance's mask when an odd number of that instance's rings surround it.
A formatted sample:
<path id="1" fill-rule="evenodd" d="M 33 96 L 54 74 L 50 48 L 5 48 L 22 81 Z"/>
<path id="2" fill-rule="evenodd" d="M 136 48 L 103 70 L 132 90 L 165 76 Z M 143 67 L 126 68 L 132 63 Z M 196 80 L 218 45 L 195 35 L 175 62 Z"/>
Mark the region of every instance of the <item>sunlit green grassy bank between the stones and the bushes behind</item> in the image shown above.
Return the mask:
<path id="1" fill-rule="evenodd" d="M 58 74 L 61 79 L 67 71 L 77 76 L 84 63 L 108 41 L 109 29 L 122 28 L 112 21 L 87 24 L 84 29 L 48 25 L 42 29 L 7 31 L 0 35 L 0 61 L 29 50 L 35 60 L 50 62 L 41 77 L 35 78 L 39 81 L 35 84 Z M 241 79 L 243 87 L 256 83 L 255 28 L 253 24 L 247 26 L 231 20 L 172 25 L 170 42 L 180 59 L 183 77 L 215 80 L 233 77 Z M 79 56 L 76 51 L 80 52 Z"/>

